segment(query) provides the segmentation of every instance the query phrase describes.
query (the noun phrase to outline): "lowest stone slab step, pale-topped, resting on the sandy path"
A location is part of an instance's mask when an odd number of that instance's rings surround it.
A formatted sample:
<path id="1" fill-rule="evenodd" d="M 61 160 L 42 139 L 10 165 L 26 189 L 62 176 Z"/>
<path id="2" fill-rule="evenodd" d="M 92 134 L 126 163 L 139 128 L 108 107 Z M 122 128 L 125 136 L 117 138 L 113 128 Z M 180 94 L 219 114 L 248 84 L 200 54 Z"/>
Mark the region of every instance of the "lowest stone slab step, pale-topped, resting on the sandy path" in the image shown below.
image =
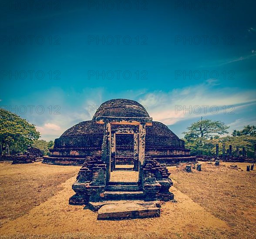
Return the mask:
<path id="1" fill-rule="evenodd" d="M 128 203 L 107 204 L 98 210 L 98 220 L 123 220 L 159 217 L 160 208 L 154 204 Z"/>

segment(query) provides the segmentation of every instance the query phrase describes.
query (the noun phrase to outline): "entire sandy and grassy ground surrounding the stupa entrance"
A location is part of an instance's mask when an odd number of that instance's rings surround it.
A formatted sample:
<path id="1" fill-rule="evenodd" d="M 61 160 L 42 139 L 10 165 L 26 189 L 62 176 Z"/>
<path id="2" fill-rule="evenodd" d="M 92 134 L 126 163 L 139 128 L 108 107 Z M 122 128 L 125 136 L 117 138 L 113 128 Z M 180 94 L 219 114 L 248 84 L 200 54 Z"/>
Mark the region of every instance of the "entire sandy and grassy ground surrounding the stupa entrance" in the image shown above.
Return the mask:
<path id="1" fill-rule="evenodd" d="M 68 205 L 79 167 L 0 163 L 0 169 L 1 238 L 255 237 L 255 171 L 203 164 L 188 176 L 170 167 L 177 203 L 163 203 L 160 218 L 98 221 L 97 213 Z M 10 182 L 17 174 L 20 180 Z"/>

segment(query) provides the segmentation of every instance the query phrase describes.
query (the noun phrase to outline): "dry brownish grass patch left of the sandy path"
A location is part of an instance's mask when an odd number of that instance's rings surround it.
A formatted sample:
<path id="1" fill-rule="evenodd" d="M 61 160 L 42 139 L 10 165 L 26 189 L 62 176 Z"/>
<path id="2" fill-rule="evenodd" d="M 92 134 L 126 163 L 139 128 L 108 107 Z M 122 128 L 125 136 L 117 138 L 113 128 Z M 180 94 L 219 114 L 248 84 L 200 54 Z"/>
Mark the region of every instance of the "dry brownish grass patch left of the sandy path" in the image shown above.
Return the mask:
<path id="1" fill-rule="evenodd" d="M 45 202 L 80 167 L 0 163 L 0 227 Z"/>

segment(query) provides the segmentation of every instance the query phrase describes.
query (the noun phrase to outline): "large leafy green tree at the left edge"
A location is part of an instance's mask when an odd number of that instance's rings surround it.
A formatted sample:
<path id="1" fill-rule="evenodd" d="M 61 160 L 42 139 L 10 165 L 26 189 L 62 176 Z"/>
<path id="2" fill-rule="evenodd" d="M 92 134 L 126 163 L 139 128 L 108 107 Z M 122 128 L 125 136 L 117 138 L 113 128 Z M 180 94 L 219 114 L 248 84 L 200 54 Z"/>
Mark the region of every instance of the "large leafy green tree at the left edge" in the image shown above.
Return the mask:
<path id="1" fill-rule="evenodd" d="M 10 153 L 24 152 L 28 145 L 38 139 L 40 133 L 34 124 L 8 110 L 0 109 L 0 144 L 9 145 Z"/>

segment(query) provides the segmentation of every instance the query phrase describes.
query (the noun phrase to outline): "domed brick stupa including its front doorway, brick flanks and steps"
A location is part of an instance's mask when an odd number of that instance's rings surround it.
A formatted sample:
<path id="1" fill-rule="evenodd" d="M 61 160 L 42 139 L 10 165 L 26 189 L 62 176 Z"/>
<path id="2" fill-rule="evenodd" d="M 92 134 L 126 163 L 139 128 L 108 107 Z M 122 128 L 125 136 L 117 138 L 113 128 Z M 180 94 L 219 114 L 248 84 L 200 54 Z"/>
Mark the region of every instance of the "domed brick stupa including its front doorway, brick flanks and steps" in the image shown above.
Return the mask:
<path id="1" fill-rule="evenodd" d="M 69 203 L 98 211 L 98 219 L 160 216 L 159 201 L 174 198 L 165 165 L 194 160 L 184 141 L 125 99 L 101 104 L 91 121 L 55 139 L 44 157 L 44 163 L 82 165 Z"/>

